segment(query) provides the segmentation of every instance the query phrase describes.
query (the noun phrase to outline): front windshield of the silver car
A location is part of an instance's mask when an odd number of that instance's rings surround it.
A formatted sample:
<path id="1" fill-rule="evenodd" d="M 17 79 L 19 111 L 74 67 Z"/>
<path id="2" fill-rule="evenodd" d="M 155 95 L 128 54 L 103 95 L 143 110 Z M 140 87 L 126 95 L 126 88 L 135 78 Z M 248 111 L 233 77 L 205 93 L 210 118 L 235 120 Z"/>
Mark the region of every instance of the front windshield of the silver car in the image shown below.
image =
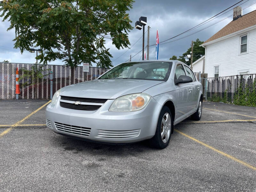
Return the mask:
<path id="1" fill-rule="evenodd" d="M 109 70 L 99 79 L 145 79 L 167 81 L 171 68 L 171 61 L 122 63 Z"/>

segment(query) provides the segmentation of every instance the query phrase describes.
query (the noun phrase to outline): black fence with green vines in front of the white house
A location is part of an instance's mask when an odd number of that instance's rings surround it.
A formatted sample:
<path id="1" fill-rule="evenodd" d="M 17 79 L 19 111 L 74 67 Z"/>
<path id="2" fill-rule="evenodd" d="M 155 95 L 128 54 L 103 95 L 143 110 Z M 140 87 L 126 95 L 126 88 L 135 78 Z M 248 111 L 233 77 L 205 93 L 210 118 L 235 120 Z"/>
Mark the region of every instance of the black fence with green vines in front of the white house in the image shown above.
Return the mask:
<path id="1" fill-rule="evenodd" d="M 207 78 L 207 100 L 256 106 L 256 74 Z"/>

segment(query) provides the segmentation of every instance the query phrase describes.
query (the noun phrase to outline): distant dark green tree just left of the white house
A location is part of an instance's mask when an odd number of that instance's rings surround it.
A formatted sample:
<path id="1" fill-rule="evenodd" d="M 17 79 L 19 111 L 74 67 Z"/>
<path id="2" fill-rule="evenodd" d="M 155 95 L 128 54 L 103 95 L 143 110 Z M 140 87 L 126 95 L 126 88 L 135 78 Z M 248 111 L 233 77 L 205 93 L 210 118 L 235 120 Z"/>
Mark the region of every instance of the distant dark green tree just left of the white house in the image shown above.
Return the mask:
<path id="1" fill-rule="evenodd" d="M 200 41 L 198 38 L 193 43 L 193 62 L 198 60 L 200 57 L 204 55 L 204 47 L 200 47 L 199 45 L 203 44 L 203 41 Z M 185 61 L 185 58 L 188 54 L 191 52 L 191 47 L 188 48 L 188 51 L 183 53 L 182 56 L 179 57 L 179 60 L 186 63 L 187 65 L 190 65 L 191 60 Z"/>

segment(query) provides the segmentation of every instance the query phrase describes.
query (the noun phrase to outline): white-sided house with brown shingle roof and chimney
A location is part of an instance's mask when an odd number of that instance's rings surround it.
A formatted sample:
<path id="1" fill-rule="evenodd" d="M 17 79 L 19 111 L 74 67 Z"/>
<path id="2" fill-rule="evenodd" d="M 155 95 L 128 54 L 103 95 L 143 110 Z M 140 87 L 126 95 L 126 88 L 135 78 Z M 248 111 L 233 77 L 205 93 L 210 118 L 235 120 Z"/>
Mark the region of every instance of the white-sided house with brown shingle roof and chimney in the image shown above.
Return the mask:
<path id="1" fill-rule="evenodd" d="M 242 15 L 241 7 L 234 8 L 233 20 L 201 46 L 205 56 L 194 62 L 195 72 L 208 77 L 256 73 L 256 10 Z"/>

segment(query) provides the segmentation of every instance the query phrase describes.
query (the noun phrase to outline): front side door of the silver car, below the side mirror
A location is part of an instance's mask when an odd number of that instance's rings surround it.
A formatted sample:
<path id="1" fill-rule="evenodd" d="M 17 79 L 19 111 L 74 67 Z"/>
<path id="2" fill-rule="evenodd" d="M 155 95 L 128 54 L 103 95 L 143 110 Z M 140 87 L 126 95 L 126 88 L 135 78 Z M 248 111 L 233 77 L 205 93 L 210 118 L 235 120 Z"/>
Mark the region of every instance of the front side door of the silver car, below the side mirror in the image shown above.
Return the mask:
<path id="1" fill-rule="evenodd" d="M 174 79 L 178 79 L 181 75 L 186 75 L 186 73 L 183 65 L 178 63 L 175 68 Z M 175 88 L 177 93 L 176 115 L 177 121 L 180 121 L 186 118 L 193 108 L 191 104 L 193 99 L 193 89 L 190 83 L 178 84 L 175 85 Z"/>

